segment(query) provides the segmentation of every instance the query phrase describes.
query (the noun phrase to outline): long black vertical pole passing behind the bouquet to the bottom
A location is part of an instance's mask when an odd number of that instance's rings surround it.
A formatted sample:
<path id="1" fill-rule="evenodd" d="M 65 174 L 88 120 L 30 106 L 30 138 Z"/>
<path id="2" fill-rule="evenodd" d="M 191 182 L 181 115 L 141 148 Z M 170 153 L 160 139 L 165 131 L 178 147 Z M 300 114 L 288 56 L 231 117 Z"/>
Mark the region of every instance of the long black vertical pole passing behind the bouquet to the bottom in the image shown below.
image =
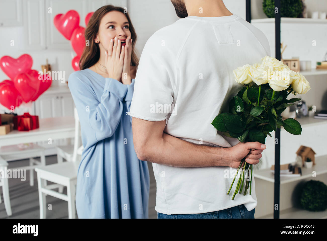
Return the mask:
<path id="1" fill-rule="evenodd" d="M 275 0 L 275 54 L 281 60 L 281 1 Z M 279 218 L 281 129 L 275 132 L 274 218 Z"/>

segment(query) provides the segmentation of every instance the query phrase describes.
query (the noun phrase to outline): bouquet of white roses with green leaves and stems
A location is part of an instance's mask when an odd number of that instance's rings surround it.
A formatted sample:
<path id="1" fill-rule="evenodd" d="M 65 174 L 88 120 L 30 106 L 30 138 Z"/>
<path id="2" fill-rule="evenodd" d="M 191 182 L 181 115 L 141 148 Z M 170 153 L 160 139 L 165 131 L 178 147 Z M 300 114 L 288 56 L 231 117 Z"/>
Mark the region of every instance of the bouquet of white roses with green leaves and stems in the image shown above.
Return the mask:
<path id="1" fill-rule="evenodd" d="M 266 137 L 270 132 L 276 131 L 281 126 L 293 134 L 301 135 L 301 125 L 298 121 L 288 118 L 282 120 L 280 114 L 291 106 L 299 98 L 287 100 L 292 93 L 305 94 L 310 89 L 309 82 L 299 72 L 290 70 L 283 62 L 266 56 L 261 59 L 262 63 L 243 65 L 233 70 L 235 81 L 243 84 L 243 88 L 229 103 L 229 112 L 220 113 L 211 124 L 225 136 L 239 139 L 241 142 L 258 141 L 265 144 Z M 244 195 L 252 181 L 252 164 L 242 159 L 232 185 L 227 193 L 229 195 L 238 171 L 243 172 L 240 176 L 235 193 L 242 192 L 243 183 L 246 179 Z M 244 177 L 246 172 L 246 177 Z M 250 174 L 251 172 L 251 178 Z M 249 180 L 250 179 L 250 180 Z"/>

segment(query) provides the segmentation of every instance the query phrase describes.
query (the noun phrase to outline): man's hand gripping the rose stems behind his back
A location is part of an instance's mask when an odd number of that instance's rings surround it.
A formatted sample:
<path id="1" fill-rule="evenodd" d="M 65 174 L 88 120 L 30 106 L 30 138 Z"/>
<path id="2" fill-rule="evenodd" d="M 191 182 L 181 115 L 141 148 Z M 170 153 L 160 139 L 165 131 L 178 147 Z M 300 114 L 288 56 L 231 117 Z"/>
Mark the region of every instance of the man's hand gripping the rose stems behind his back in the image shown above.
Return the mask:
<path id="1" fill-rule="evenodd" d="M 266 149 L 266 145 L 258 141 L 239 142 L 228 149 L 230 151 L 230 162 L 227 163 L 228 166 L 238 168 L 244 157 L 246 157 L 246 162 L 254 165 L 258 164 L 259 158 L 262 157 L 261 152 Z"/>

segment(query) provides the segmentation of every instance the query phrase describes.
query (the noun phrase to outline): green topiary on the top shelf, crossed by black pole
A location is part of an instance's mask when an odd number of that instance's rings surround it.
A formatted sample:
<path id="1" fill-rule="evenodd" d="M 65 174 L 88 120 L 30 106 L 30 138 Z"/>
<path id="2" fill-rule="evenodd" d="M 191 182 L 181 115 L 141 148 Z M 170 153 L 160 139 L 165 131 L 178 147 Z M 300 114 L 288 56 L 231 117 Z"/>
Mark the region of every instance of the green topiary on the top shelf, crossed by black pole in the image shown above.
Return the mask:
<path id="1" fill-rule="evenodd" d="M 275 0 L 264 0 L 262 7 L 268 18 L 275 17 Z M 301 12 L 301 0 L 281 0 L 281 17 L 297 18 Z"/>

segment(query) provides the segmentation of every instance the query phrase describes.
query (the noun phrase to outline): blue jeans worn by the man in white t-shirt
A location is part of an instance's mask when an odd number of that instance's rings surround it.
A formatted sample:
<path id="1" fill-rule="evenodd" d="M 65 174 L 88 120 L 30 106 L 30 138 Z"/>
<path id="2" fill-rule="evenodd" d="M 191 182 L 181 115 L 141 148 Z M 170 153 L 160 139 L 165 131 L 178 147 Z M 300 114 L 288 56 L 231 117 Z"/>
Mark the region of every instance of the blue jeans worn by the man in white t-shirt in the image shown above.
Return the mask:
<path id="1" fill-rule="evenodd" d="M 158 213 L 158 218 L 254 218 L 255 208 L 250 212 L 244 204 L 209 213 L 195 214 L 163 214 Z"/>

